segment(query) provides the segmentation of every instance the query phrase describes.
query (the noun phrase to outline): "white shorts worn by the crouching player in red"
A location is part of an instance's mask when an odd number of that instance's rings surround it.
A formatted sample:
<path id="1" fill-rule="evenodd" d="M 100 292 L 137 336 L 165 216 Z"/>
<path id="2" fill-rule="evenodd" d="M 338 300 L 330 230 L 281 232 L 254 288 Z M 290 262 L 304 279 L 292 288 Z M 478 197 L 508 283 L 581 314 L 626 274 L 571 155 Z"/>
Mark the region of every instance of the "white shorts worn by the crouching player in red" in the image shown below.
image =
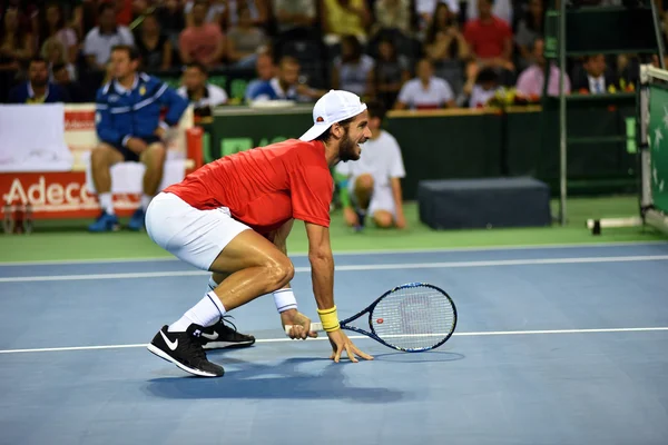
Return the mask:
<path id="1" fill-rule="evenodd" d="M 174 194 L 160 192 L 146 210 L 146 231 L 155 244 L 199 269 L 212 263 L 242 231 L 227 207 L 199 210 Z"/>

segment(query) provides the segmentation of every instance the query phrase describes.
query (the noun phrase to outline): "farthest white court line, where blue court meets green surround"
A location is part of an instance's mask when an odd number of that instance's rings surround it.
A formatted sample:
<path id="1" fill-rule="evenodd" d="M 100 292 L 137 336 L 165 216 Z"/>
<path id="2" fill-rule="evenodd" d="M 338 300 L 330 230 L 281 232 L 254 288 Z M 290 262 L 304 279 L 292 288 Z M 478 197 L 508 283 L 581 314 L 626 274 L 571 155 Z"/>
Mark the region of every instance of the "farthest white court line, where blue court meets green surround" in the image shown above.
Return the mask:
<path id="1" fill-rule="evenodd" d="M 666 245 L 668 241 L 612 241 L 612 243 L 564 243 L 544 245 L 508 245 L 485 247 L 433 247 L 423 249 L 369 249 L 369 250 L 341 250 L 334 253 L 334 257 L 364 256 L 364 255 L 402 255 L 402 254 L 449 254 L 460 251 L 498 251 L 498 250 L 536 250 L 536 249 L 569 249 L 569 248 L 593 248 L 593 247 L 623 247 L 623 246 L 654 246 Z M 308 253 L 296 251 L 288 254 L 289 257 L 307 257 Z M 175 257 L 145 257 L 145 258 L 98 258 L 98 259 L 50 259 L 41 261 L 0 261 L 4 266 L 49 266 L 49 265 L 81 265 L 81 264 L 115 264 L 115 263 L 151 263 L 151 261 L 178 261 Z"/>

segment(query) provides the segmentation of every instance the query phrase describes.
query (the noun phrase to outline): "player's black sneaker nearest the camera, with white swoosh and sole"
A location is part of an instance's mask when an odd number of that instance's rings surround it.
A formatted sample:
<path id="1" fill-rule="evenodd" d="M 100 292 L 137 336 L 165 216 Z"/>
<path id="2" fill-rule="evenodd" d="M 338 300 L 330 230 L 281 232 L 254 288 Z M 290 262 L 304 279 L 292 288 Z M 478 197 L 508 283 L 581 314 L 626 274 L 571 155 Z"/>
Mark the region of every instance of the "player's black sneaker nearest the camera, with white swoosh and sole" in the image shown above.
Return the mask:
<path id="1" fill-rule="evenodd" d="M 225 369 L 206 358 L 199 343 L 202 326 L 190 325 L 185 333 L 169 333 L 167 325 L 156 334 L 147 346 L 148 350 L 183 370 L 200 377 L 222 377 Z"/>

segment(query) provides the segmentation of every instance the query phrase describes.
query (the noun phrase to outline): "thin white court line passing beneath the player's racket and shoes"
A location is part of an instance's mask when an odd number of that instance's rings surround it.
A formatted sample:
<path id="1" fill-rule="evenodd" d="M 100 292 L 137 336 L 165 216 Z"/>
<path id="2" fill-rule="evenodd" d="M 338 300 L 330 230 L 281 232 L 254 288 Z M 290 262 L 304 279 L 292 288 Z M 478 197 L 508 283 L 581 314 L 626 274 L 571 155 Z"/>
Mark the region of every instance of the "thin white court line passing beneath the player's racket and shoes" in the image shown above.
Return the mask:
<path id="1" fill-rule="evenodd" d="M 600 328 L 600 329 L 549 329 L 549 330 L 482 330 L 479 333 L 454 333 L 453 337 L 488 337 L 488 336 L 507 336 L 507 335 L 558 335 L 558 334 L 602 334 L 602 333 L 656 333 L 668 332 L 668 326 L 657 327 L 619 327 L 619 328 Z M 434 334 L 438 335 L 438 334 Z M 364 335 L 351 335 L 351 339 L 371 339 Z M 308 338 L 313 340 L 326 340 L 327 336 L 317 338 Z M 258 338 L 256 343 L 286 343 L 295 342 L 291 338 Z M 52 348 L 35 348 L 35 349 L 0 349 L 0 354 L 22 354 L 22 353 L 59 353 L 69 350 L 99 350 L 99 349 L 127 349 L 146 347 L 147 344 L 134 345 L 105 345 L 105 346 L 72 346 L 72 347 L 52 347 Z"/>

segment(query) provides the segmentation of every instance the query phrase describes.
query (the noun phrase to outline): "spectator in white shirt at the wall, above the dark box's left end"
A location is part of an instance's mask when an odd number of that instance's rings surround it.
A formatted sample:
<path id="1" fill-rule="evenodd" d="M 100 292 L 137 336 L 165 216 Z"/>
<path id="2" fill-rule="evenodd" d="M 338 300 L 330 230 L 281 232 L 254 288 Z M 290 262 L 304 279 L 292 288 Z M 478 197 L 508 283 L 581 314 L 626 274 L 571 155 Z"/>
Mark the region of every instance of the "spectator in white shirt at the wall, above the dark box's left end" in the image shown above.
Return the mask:
<path id="1" fill-rule="evenodd" d="M 418 77 L 403 85 L 394 105 L 395 110 L 438 109 L 455 107 L 452 88 L 446 80 L 434 77 L 434 67 L 429 59 L 418 63 Z"/>

